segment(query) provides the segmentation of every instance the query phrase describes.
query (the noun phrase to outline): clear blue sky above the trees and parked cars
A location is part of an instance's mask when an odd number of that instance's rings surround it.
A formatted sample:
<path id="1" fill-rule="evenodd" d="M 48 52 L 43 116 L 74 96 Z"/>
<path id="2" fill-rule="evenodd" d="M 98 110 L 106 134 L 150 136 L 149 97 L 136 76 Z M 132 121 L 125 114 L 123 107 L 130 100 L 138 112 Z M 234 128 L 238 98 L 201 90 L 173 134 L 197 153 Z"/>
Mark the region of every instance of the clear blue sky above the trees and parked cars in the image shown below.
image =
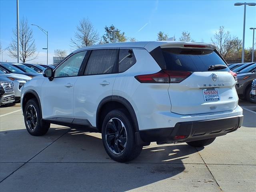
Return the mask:
<path id="1" fill-rule="evenodd" d="M 20 19 L 37 24 L 49 32 L 49 64 L 55 49 L 70 50 L 70 38 L 79 20 L 89 18 L 100 36 L 104 27 L 114 24 L 126 36 L 138 41 L 156 40 L 161 30 L 170 37 L 179 38 L 182 31 L 190 32 L 196 42 L 210 42 L 219 26 L 224 26 L 232 36 L 242 39 L 243 6 L 239 1 L 71 1 L 71 0 L 20 0 Z M 243 1 L 242 1 L 243 2 Z M 249 1 L 246 2 L 256 2 Z M 16 27 L 16 0 L 0 0 L 0 42 L 6 48 Z M 245 47 L 252 46 L 252 30 L 256 27 L 256 6 L 246 7 Z M 46 35 L 37 27 L 34 32 L 38 58 L 30 63 L 46 63 Z M 3 60 L 16 61 L 3 54 Z M 2 61 L 2 55 L 1 55 Z"/>

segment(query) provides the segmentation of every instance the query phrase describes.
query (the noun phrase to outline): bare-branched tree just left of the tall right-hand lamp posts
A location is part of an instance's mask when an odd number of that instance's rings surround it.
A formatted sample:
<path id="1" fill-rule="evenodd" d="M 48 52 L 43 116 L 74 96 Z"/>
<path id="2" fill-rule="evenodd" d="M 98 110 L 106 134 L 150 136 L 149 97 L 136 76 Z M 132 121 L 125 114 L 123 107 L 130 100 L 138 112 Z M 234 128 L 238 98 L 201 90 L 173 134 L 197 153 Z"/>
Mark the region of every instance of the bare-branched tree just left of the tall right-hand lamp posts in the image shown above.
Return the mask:
<path id="1" fill-rule="evenodd" d="M 211 40 L 212 43 L 217 46 L 218 52 L 220 52 L 224 59 L 233 52 L 237 52 L 242 47 L 242 41 L 238 39 L 238 37 L 231 38 L 230 32 L 226 32 L 224 26 L 220 26 Z"/>

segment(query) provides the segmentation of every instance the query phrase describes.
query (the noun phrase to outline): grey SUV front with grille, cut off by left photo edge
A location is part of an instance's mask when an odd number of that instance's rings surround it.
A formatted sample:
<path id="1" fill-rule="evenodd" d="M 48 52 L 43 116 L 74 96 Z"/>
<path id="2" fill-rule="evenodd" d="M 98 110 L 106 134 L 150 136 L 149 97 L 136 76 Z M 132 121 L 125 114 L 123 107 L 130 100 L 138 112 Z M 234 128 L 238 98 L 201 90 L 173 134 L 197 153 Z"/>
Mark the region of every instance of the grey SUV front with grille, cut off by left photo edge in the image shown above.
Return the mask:
<path id="1" fill-rule="evenodd" d="M 0 76 L 0 106 L 15 101 L 14 84 L 7 77 Z"/>

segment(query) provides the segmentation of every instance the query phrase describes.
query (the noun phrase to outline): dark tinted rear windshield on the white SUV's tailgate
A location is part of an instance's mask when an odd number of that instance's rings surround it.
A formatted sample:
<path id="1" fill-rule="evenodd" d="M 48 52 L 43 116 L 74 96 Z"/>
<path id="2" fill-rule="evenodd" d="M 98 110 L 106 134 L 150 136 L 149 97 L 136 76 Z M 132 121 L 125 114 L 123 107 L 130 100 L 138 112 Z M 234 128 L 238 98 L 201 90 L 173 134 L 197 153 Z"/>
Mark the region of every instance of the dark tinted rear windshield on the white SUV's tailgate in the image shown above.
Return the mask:
<path id="1" fill-rule="evenodd" d="M 203 72 L 212 65 L 225 65 L 216 50 L 188 48 L 156 48 L 150 54 L 162 69 Z M 221 71 L 228 71 L 228 68 Z"/>

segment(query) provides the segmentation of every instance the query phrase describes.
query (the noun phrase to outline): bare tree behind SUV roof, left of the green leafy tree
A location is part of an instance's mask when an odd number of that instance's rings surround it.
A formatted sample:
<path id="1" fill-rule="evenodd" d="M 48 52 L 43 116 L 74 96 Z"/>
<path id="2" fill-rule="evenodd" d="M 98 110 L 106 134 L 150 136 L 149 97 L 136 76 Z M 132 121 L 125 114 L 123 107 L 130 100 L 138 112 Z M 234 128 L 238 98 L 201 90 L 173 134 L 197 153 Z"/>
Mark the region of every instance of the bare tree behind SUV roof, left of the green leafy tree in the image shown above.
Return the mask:
<path id="1" fill-rule="evenodd" d="M 94 30 L 93 24 L 88 18 L 80 20 L 76 30 L 75 37 L 71 38 L 71 46 L 73 47 L 81 48 L 94 45 L 100 39 L 97 30 Z"/>

